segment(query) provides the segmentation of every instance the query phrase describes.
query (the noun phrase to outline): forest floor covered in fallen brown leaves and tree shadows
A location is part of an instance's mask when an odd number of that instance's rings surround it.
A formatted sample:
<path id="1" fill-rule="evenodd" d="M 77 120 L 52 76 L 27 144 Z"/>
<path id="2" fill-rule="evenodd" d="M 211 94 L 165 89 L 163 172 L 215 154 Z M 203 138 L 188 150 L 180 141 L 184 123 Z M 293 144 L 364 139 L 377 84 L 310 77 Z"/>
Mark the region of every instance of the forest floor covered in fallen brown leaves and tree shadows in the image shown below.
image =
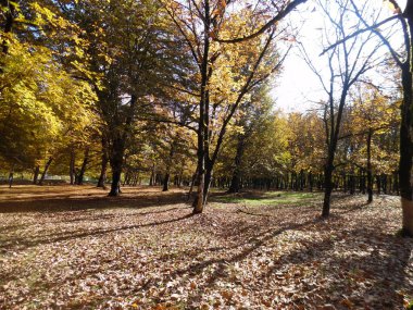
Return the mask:
<path id="1" fill-rule="evenodd" d="M 405 309 L 399 198 L 0 186 L 0 309 Z"/>

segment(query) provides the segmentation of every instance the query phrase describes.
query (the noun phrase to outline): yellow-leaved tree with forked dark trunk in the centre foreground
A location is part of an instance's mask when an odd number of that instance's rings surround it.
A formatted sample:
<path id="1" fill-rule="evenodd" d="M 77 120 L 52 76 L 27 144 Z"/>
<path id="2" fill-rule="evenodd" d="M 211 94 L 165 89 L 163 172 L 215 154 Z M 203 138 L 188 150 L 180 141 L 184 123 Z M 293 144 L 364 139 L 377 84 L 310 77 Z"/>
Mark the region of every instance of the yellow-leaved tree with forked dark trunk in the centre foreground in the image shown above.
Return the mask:
<path id="1" fill-rule="evenodd" d="M 195 213 L 203 211 L 213 168 L 236 110 L 248 94 L 278 66 L 274 57 L 276 21 L 299 2 L 304 1 L 293 1 L 293 4 L 279 1 L 275 7 L 259 2 L 255 9 L 248 3 L 221 0 L 163 2 L 177 35 L 185 42 L 184 52 L 196 64 L 190 76 L 197 80 L 193 95 L 198 98 Z M 263 14 L 274 11 L 276 17 L 265 23 Z M 223 44 L 237 37 L 250 41 L 248 45 Z"/>

